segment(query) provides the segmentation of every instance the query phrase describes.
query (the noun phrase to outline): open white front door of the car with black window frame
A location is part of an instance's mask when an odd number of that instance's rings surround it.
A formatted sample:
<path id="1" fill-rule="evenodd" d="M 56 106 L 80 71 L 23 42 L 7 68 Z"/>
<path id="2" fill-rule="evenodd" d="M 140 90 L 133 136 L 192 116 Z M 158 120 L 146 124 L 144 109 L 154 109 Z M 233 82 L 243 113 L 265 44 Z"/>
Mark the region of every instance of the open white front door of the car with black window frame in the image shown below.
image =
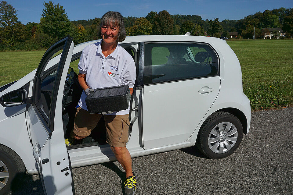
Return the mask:
<path id="1" fill-rule="evenodd" d="M 45 52 L 34 77 L 32 97 L 27 100 L 27 128 L 45 194 L 74 194 L 62 124 L 63 90 L 73 48 L 72 38 L 67 36 Z M 61 57 L 52 58 L 62 49 Z M 52 91 L 44 92 L 41 87 L 48 78 L 53 83 Z"/>

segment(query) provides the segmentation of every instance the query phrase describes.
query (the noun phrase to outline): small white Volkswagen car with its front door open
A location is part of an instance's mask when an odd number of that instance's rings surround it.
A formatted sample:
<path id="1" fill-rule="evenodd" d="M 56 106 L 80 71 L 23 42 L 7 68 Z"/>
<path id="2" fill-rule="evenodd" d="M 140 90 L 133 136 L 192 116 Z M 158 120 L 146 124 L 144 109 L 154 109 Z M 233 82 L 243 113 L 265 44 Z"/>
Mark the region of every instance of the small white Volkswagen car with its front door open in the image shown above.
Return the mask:
<path id="1" fill-rule="evenodd" d="M 25 171 L 39 173 L 45 194 L 73 194 L 71 166 L 116 160 L 103 122 L 81 143 L 64 142 L 82 91 L 70 63 L 99 41 L 74 46 L 67 36 L 45 52 L 37 69 L 0 88 L 0 194 L 9 194 Z M 126 37 L 120 45 L 137 68 L 126 145 L 132 157 L 195 144 L 209 158 L 237 149 L 251 110 L 240 63 L 226 41 L 150 35 Z"/>

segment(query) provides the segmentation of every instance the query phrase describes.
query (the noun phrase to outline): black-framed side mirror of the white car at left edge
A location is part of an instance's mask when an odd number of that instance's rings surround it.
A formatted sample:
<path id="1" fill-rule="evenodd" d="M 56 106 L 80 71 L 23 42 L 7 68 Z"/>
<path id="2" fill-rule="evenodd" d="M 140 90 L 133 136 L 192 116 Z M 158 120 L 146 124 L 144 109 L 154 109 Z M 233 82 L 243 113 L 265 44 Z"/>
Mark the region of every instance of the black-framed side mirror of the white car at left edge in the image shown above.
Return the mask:
<path id="1" fill-rule="evenodd" d="M 17 89 L 2 95 L 0 97 L 0 104 L 3 107 L 22 105 L 26 98 L 27 91 L 24 89 Z"/>

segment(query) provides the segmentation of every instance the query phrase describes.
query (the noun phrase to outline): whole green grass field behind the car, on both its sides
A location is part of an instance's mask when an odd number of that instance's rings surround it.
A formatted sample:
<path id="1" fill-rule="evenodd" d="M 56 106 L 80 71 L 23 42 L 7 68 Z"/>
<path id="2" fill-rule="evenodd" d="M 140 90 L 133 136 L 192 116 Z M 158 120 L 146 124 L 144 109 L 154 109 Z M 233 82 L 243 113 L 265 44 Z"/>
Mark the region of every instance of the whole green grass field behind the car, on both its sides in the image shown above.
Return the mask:
<path id="1" fill-rule="evenodd" d="M 293 39 L 227 41 L 242 69 L 243 90 L 251 109 L 293 105 Z M 38 67 L 45 51 L 0 52 L 0 86 Z M 78 60 L 71 62 L 77 71 Z"/>

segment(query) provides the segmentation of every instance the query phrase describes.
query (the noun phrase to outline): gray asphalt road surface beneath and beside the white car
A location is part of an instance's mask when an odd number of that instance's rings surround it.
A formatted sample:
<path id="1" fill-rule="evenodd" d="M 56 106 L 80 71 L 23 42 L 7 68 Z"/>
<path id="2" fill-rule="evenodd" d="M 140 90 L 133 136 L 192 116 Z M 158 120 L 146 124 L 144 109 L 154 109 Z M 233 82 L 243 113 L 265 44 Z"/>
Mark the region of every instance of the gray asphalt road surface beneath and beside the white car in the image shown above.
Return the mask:
<path id="1" fill-rule="evenodd" d="M 196 147 L 133 158 L 136 194 L 293 194 L 293 108 L 251 115 L 250 132 L 227 158 L 207 159 Z M 121 170 L 118 162 L 74 168 L 75 194 L 122 194 Z M 38 175 L 13 194 L 44 194 Z"/>

